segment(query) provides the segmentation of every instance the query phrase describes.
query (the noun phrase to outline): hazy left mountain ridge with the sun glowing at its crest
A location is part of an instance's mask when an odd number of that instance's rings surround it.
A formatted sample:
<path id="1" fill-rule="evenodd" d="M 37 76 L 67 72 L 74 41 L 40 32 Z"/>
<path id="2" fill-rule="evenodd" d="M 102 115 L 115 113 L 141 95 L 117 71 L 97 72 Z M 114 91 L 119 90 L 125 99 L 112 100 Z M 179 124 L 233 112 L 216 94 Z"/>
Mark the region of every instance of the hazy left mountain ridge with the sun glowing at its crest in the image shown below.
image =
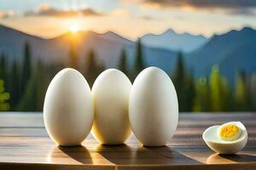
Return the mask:
<path id="1" fill-rule="evenodd" d="M 76 34 L 67 32 L 59 37 L 44 39 L 25 32 L 17 31 L 7 26 L 0 26 L 0 53 L 7 54 L 10 60 L 23 59 L 25 42 L 29 42 L 33 60 L 41 59 L 44 63 L 67 64 L 71 42 L 76 42 L 79 53 L 79 64 L 83 66 L 86 54 L 93 49 L 97 61 L 106 68 L 117 67 L 123 48 L 128 54 L 128 65 L 133 65 L 136 53 L 136 43 L 118 34 L 108 31 L 98 34 L 94 31 L 79 31 Z M 144 60 L 147 66 L 158 66 L 165 71 L 172 71 L 177 59 L 177 52 L 160 48 L 143 48 Z"/>

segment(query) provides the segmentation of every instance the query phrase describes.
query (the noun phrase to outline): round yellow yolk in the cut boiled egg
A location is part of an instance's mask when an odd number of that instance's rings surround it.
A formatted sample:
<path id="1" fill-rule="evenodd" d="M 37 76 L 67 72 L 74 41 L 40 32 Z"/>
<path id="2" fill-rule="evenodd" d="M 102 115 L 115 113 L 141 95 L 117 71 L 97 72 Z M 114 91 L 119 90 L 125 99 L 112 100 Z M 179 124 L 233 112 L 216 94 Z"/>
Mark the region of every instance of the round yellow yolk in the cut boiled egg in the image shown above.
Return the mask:
<path id="1" fill-rule="evenodd" d="M 240 128 L 235 124 L 226 124 L 219 129 L 219 137 L 226 140 L 235 140 L 240 136 Z"/>

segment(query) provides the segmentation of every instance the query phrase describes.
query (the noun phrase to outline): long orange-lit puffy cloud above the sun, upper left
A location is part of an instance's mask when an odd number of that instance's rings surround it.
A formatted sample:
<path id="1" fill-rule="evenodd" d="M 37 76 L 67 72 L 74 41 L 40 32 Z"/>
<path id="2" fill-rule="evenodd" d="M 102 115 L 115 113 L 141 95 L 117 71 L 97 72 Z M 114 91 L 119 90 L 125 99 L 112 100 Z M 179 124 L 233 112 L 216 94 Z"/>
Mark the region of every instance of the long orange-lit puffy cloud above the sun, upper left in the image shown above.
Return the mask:
<path id="1" fill-rule="evenodd" d="M 25 16 L 52 16 L 52 17 L 74 17 L 74 16 L 100 16 L 102 13 L 98 13 L 91 8 L 83 8 L 79 10 L 60 10 L 52 8 L 47 3 L 43 3 L 38 7 L 37 11 L 27 11 Z"/>

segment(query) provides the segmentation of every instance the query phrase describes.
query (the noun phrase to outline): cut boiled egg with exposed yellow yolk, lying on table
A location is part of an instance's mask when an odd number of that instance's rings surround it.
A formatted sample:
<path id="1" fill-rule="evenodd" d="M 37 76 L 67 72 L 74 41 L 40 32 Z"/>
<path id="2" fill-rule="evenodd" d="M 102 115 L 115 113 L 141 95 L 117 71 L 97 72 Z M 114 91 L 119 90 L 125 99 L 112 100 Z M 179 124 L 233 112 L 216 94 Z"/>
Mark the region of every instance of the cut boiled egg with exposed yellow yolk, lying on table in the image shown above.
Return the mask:
<path id="1" fill-rule="evenodd" d="M 202 138 L 219 154 L 235 154 L 247 144 L 247 129 L 241 122 L 228 122 L 208 127 Z"/>

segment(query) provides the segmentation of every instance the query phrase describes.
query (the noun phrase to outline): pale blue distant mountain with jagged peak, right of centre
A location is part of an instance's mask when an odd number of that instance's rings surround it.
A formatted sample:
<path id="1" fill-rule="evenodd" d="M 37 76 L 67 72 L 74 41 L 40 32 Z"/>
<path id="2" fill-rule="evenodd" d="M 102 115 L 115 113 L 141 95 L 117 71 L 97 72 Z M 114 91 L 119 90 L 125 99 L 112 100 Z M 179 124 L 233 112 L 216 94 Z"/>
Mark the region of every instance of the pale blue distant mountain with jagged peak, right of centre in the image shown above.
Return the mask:
<path id="1" fill-rule="evenodd" d="M 206 43 L 207 38 L 201 35 L 194 36 L 189 33 L 178 34 L 169 29 L 160 35 L 147 34 L 142 37 L 142 42 L 148 47 L 166 48 L 174 51 L 180 50 L 184 53 L 189 53 Z"/>

